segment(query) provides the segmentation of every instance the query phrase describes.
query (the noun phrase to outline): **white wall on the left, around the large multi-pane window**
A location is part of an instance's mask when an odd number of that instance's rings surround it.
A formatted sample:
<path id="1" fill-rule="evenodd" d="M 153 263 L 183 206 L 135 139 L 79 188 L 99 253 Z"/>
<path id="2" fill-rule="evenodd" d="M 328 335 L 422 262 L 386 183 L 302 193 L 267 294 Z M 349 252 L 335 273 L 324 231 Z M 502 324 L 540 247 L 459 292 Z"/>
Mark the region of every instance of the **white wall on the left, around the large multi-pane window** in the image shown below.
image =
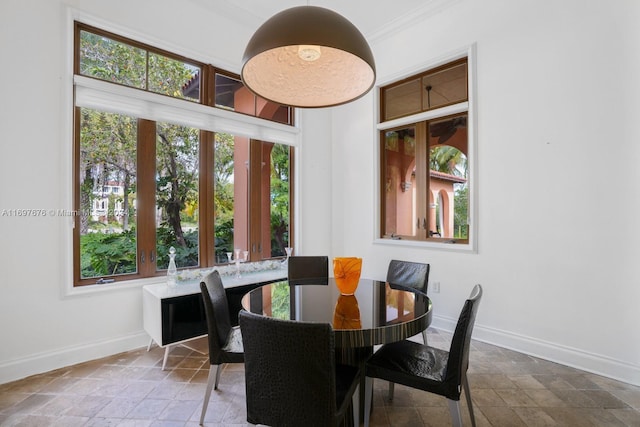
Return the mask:
<path id="1" fill-rule="evenodd" d="M 70 209 L 66 5 L 115 24 L 116 32 L 232 70 L 249 37 L 244 28 L 245 38 L 225 19 L 173 0 L 2 1 L 0 212 Z M 69 233 L 68 218 L 0 216 L 0 383 L 149 340 L 140 286 L 63 295 Z"/>

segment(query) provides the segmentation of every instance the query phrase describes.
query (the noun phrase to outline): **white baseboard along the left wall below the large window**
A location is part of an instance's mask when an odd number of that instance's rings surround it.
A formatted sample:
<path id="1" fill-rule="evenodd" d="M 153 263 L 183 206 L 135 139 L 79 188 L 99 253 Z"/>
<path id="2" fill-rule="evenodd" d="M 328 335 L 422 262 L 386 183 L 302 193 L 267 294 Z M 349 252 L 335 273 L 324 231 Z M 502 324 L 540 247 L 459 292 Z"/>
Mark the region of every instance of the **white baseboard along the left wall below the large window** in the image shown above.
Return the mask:
<path id="1" fill-rule="evenodd" d="M 0 384 L 134 350 L 144 347 L 148 343 L 149 335 L 141 331 L 116 339 L 90 342 L 17 360 L 0 362 Z"/>

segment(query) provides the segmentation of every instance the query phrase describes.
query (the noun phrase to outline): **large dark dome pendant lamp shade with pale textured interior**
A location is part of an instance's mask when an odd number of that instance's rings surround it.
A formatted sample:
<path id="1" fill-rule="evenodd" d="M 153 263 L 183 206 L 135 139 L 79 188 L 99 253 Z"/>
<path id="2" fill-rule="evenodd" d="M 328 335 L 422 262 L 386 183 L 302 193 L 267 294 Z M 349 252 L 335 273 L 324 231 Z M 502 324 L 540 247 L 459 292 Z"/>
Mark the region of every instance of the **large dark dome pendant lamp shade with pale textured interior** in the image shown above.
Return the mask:
<path id="1" fill-rule="evenodd" d="M 244 51 L 241 74 L 245 86 L 269 101 L 317 108 L 366 94 L 376 67 L 351 22 L 325 8 L 298 6 L 258 28 Z"/>

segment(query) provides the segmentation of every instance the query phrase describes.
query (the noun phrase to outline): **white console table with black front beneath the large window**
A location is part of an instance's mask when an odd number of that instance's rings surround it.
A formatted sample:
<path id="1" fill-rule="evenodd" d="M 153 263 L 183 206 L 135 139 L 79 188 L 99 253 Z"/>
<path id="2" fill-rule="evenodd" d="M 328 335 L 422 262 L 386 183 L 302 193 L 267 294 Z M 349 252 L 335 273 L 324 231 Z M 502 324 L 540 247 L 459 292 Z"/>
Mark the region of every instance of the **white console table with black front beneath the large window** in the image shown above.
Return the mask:
<path id="1" fill-rule="evenodd" d="M 235 275 L 223 275 L 221 278 L 233 312 L 235 308 L 239 309 L 239 300 L 245 292 L 262 284 L 286 280 L 287 270 L 264 270 L 242 273 L 240 278 Z M 189 341 L 207 336 L 200 280 L 179 281 L 173 288 L 165 283 L 143 286 L 142 313 L 144 330 L 151 337 L 147 351 L 153 342 L 165 349 L 163 370 L 169 352 L 177 345 L 202 352 L 197 347 L 189 346 Z"/>

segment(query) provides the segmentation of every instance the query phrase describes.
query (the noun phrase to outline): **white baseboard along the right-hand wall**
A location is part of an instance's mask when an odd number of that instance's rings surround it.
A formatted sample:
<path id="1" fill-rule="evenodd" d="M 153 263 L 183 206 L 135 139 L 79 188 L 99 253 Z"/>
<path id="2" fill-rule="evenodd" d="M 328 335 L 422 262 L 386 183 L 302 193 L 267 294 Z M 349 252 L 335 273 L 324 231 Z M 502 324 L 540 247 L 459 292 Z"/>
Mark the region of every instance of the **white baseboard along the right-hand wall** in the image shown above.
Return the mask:
<path id="1" fill-rule="evenodd" d="M 431 327 L 453 332 L 456 321 L 457 319 L 433 316 Z M 473 339 L 640 386 L 640 365 L 478 323 L 473 328 Z"/>

